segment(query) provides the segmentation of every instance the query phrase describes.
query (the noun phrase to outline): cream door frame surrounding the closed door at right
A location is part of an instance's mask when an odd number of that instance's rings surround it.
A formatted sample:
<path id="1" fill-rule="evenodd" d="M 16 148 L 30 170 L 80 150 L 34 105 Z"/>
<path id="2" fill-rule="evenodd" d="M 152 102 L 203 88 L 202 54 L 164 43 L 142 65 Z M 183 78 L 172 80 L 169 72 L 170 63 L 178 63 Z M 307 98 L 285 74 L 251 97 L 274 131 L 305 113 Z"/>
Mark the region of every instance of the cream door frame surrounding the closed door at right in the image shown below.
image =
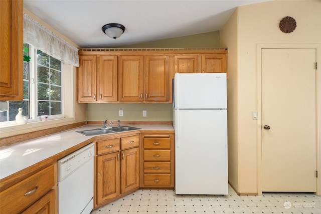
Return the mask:
<path id="1" fill-rule="evenodd" d="M 316 87 L 316 170 L 318 171 L 318 177 L 316 178 L 316 195 L 321 195 L 321 44 L 258 44 L 256 47 L 257 54 L 257 97 L 258 97 L 258 120 L 257 120 L 257 189 L 258 194 L 262 195 L 262 49 L 284 49 L 284 48 L 311 48 L 315 49 L 315 59 L 317 63 L 316 75 L 315 75 L 315 87 Z"/>

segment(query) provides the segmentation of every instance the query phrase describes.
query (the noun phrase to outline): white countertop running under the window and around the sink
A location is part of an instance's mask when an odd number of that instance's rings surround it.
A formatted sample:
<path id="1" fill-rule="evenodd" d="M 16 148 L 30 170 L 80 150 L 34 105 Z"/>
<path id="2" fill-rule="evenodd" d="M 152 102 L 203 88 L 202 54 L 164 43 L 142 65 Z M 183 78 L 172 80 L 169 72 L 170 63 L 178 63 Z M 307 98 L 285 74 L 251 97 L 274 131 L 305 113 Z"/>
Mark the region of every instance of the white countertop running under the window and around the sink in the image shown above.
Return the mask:
<path id="1" fill-rule="evenodd" d="M 124 125 L 122 125 L 124 126 Z M 172 125 L 130 125 L 143 130 L 174 130 Z M 76 131 L 96 129 L 101 125 L 88 125 L 23 141 L 0 148 L 0 179 L 63 152 L 94 136 L 85 136 Z M 96 135 L 98 136 L 98 135 Z"/>

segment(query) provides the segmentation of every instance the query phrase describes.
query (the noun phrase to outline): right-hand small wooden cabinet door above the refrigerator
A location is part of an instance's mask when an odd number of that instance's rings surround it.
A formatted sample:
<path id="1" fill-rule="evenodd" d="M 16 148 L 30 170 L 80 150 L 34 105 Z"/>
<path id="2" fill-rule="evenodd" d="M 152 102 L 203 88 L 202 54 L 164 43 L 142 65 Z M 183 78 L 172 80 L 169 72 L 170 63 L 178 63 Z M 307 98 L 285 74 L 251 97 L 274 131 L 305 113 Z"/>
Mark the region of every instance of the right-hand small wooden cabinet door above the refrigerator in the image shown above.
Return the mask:
<path id="1" fill-rule="evenodd" d="M 226 73 L 226 55 L 202 55 L 202 73 Z"/>

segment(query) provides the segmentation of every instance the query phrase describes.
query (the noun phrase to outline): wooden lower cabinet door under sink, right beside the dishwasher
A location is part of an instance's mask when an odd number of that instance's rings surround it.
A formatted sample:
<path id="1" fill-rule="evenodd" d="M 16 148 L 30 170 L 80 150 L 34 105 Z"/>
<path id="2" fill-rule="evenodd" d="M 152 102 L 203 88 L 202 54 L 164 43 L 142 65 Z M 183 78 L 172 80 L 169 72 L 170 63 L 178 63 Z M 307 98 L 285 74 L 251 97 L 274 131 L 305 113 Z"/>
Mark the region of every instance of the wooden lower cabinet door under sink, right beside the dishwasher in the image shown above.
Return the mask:
<path id="1" fill-rule="evenodd" d="M 120 194 L 119 152 L 97 157 L 96 204 Z"/>

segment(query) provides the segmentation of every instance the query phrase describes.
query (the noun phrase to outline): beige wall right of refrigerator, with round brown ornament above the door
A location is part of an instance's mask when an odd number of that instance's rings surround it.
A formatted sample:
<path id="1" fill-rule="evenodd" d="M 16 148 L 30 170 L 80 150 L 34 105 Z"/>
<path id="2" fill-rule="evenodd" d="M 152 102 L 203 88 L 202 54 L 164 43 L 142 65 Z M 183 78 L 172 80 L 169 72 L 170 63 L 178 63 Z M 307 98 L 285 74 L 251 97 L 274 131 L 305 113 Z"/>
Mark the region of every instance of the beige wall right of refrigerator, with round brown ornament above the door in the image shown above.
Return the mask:
<path id="1" fill-rule="evenodd" d="M 282 33 L 278 27 L 286 16 L 297 23 L 290 34 Z M 228 92 L 229 146 L 237 149 L 233 150 L 237 160 L 229 157 L 230 164 L 237 165 L 237 169 L 230 170 L 229 180 L 238 192 L 259 192 L 260 127 L 258 120 L 252 120 L 252 111 L 259 111 L 257 44 L 321 44 L 320 21 L 321 1 L 271 1 L 239 7 L 221 30 L 221 44 L 229 51 L 229 78 L 236 84 Z M 231 32 L 237 38 L 229 35 Z M 232 54 L 237 54 L 237 60 L 230 59 Z"/>

